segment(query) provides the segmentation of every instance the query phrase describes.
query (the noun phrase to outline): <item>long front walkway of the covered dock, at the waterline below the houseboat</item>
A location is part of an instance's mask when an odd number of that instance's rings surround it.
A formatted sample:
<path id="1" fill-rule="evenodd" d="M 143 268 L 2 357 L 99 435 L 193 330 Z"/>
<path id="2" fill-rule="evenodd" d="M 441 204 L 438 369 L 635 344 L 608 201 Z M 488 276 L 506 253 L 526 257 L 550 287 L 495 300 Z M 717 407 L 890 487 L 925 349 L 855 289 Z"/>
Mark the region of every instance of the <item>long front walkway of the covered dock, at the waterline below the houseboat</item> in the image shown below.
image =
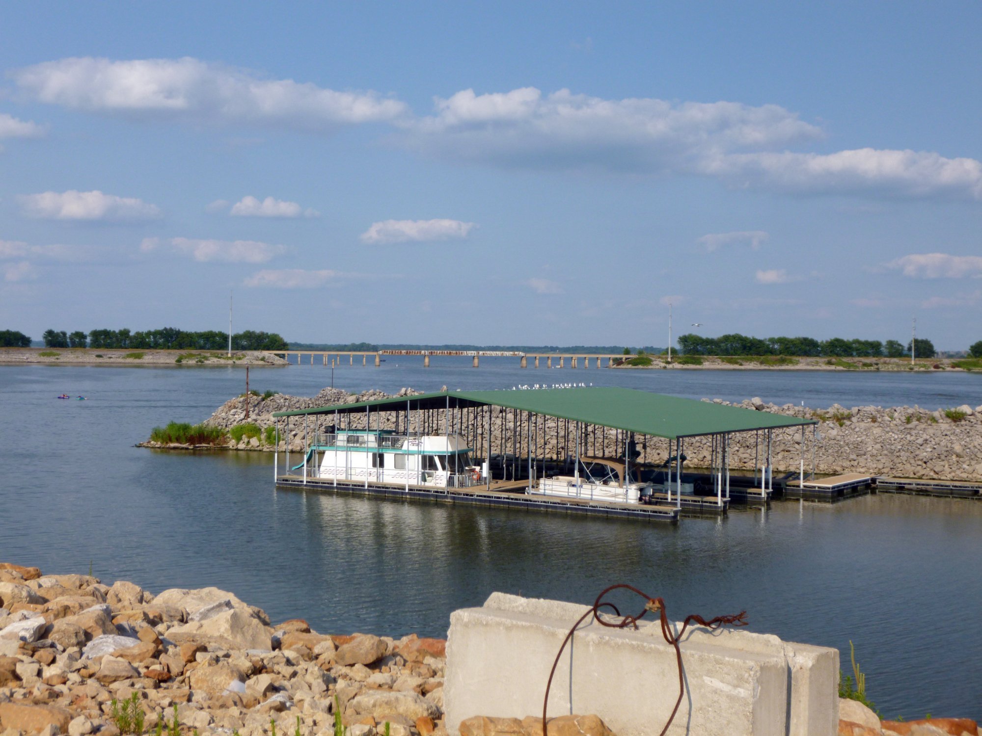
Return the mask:
<path id="1" fill-rule="evenodd" d="M 625 518 L 637 521 L 660 521 L 678 523 L 680 513 L 675 506 L 646 503 L 620 503 L 617 501 L 567 499 L 556 496 L 526 495 L 519 489 L 527 486 L 526 481 L 492 482 L 491 490 L 485 486 L 471 488 L 438 488 L 392 483 L 365 483 L 334 478 L 304 478 L 299 475 L 280 475 L 276 478 L 278 488 L 304 491 L 338 492 L 355 496 L 369 496 L 382 499 L 414 501 L 437 501 L 461 503 L 466 505 L 498 506 L 525 511 L 560 511 L 608 518 Z"/>

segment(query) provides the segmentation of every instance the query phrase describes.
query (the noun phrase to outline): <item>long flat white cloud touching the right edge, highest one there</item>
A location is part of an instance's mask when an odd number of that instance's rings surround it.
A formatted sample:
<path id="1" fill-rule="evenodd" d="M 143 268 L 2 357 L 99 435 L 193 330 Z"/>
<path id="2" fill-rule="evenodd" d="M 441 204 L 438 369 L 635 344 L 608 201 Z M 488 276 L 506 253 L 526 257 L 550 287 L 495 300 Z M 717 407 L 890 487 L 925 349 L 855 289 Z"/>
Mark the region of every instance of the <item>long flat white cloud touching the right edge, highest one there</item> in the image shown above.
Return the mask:
<path id="1" fill-rule="evenodd" d="M 784 192 L 982 199 L 982 162 L 931 151 L 736 153 L 706 159 L 700 169 L 736 186 Z"/>

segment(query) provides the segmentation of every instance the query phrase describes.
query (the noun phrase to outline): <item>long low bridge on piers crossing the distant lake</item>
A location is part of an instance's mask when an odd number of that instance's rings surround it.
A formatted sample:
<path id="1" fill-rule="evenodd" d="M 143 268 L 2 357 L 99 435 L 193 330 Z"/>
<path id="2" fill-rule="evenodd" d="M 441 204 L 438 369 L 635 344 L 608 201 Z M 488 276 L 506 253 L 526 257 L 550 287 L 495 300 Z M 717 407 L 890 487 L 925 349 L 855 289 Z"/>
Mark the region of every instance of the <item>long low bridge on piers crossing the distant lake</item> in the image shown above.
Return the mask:
<path id="1" fill-rule="evenodd" d="M 607 363 L 606 367 L 613 368 L 616 361 L 636 357 L 633 354 L 613 352 L 520 352 L 518 350 L 262 350 L 262 352 L 278 355 L 291 363 L 295 362 L 291 360 L 291 356 L 296 355 L 298 365 L 304 361 L 305 356 L 309 356 L 310 365 L 314 365 L 315 356 L 319 355 L 321 364 L 325 366 L 340 366 L 346 357 L 349 365 L 355 365 L 355 358 L 361 358 L 361 365 L 366 366 L 370 358 L 374 365 L 379 366 L 382 364 L 383 355 L 421 356 L 424 368 L 429 367 L 430 357 L 433 355 L 470 357 L 474 368 L 480 365 L 481 358 L 518 358 L 518 366 L 521 368 L 528 367 L 529 358 L 532 359 L 535 368 L 565 368 L 567 361 L 571 368 L 589 368 L 591 361 L 594 361 L 597 368 L 603 368 L 604 361 Z"/>

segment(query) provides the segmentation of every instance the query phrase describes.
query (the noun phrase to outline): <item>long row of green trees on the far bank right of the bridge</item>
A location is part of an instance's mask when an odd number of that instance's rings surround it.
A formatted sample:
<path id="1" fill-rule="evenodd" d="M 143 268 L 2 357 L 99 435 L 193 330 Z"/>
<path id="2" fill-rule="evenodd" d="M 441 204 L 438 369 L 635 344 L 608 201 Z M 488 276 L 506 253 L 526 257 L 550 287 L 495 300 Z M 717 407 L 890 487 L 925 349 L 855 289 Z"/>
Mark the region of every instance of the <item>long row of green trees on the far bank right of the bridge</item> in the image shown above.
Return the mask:
<path id="1" fill-rule="evenodd" d="M 975 345 L 972 346 L 973 348 Z M 980 345 L 982 347 L 982 345 Z M 814 338 L 750 338 L 735 333 L 721 335 L 719 338 L 704 338 L 701 335 L 682 335 L 679 337 L 679 351 L 684 355 L 792 355 L 795 357 L 829 358 L 901 358 L 910 355 L 910 342 L 904 345 L 896 340 L 844 340 L 832 338 L 818 341 Z M 933 358 L 936 354 L 934 343 L 917 338 L 914 342 L 914 355 L 919 358 Z"/>

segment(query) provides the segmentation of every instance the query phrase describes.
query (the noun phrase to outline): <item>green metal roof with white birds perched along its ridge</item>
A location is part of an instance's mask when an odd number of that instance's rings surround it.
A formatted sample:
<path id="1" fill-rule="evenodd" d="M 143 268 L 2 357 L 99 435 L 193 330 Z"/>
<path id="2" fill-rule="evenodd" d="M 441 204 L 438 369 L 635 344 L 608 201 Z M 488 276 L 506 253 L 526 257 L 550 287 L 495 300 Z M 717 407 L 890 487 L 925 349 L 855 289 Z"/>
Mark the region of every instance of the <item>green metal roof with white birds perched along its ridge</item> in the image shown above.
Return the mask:
<path id="1" fill-rule="evenodd" d="M 816 424 L 813 419 L 771 414 L 766 411 L 724 406 L 691 398 L 651 394 L 635 389 L 530 389 L 525 391 L 451 391 L 381 398 L 374 401 L 319 406 L 298 411 L 281 411 L 274 417 L 309 414 L 353 413 L 366 407 L 380 411 L 401 411 L 409 402 L 412 409 L 440 409 L 447 402 L 462 406 L 506 406 L 533 414 L 545 414 L 586 424 L 664 437 L 696 437 L 728 432 L 779 429 Z"/>

